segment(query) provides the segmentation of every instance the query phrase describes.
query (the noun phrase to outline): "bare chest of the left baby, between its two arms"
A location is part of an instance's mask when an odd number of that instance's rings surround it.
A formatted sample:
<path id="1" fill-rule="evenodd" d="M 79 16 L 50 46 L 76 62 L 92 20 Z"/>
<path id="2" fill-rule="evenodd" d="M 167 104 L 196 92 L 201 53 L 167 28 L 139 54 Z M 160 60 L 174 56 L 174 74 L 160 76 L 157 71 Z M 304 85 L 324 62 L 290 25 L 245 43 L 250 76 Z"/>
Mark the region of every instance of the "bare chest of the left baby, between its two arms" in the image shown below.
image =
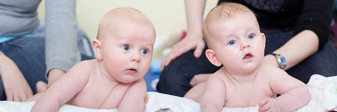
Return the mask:
<path id="1" fill-rule="evenodd" d="M 128 87 L 119 85 L 115 87 L 86 85 L 67 103 L 86 108 L 114 109 L 118 108 L 127 89 Z"/>

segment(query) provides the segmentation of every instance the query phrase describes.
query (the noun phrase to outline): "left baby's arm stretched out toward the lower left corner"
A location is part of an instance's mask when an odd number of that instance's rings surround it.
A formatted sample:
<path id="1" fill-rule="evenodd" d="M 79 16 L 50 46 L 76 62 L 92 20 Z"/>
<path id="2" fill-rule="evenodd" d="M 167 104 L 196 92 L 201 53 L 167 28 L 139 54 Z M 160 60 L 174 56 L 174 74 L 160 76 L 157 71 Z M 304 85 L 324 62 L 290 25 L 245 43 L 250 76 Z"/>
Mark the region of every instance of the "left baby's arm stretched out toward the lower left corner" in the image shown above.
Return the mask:
<path id="1" fill-rule="evenodd" d="M 89 69 L 82 62 L 70 68 L 36 101 L 31 112 L 56 112 L 60 105 L 66 103 L 84 88 L 89 79 Z"/>

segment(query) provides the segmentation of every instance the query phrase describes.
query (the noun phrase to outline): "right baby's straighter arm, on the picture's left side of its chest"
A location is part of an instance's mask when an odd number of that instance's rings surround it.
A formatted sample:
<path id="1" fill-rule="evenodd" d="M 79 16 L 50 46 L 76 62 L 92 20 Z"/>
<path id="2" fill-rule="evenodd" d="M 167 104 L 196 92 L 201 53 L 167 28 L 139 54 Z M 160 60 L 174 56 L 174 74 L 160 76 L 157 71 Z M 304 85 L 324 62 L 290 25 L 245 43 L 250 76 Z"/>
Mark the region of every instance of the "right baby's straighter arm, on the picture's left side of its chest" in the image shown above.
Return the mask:
<path id="1" fill-rule="evenodd" d="M 220 112 L 225 102 L 225 95 L 226 87 L 223 80 L 215 74 L 211 75 L 200 101 L 201 112 Z"/>

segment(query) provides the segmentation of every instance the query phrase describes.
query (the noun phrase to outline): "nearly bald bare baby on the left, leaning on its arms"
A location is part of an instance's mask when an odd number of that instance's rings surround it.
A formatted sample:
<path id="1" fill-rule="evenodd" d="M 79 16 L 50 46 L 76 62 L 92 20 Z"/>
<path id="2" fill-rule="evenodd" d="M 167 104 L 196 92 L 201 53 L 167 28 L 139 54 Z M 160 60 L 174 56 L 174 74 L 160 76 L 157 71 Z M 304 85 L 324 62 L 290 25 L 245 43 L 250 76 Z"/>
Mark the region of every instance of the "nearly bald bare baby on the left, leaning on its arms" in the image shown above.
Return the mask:
<path id="1" fill-rule="evenodd" d="M 128 7 L 109 11 L 100 20 L 97 39 L 92 42 L 97 59 L 74 65 L 31 111 L 55 112 L 60 105 L 69 104 L 144 112 L 143 76 L 150 67 L 155 37 L 153 24 L 142 12 Z"/>

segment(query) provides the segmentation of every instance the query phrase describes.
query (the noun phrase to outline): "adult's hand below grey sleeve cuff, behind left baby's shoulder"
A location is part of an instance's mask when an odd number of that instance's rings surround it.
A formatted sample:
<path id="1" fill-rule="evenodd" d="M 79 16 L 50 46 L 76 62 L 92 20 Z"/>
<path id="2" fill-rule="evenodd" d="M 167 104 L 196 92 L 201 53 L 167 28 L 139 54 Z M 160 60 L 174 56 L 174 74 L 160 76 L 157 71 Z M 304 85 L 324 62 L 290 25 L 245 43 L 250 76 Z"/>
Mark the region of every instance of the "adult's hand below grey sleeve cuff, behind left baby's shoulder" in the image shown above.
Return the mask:
<path id="1" fill-rule="evenodd" d="M 47 88 L 53 85 L 53 83 L 65 74 L 65 71 L 55 68 L 48 72 L 48 85 Z"/>

